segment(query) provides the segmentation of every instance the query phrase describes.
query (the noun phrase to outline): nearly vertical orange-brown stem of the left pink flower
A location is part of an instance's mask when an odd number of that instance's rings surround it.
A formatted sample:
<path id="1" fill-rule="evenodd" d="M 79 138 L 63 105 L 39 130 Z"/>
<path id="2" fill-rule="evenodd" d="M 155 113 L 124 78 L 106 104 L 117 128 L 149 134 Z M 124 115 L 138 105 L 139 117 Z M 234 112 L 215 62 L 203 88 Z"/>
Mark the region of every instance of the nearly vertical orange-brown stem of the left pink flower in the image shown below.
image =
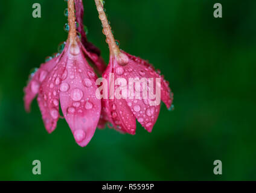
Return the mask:
<path id="1" fill-rule="evenodd" d="M 77 30 L 75 29 L 75 7 L 74 0 L 68 0 L 68 25 L 69 34 L 68 38 L 72 43 L 75 43 L 75 38 L 77 37 Z"/>

